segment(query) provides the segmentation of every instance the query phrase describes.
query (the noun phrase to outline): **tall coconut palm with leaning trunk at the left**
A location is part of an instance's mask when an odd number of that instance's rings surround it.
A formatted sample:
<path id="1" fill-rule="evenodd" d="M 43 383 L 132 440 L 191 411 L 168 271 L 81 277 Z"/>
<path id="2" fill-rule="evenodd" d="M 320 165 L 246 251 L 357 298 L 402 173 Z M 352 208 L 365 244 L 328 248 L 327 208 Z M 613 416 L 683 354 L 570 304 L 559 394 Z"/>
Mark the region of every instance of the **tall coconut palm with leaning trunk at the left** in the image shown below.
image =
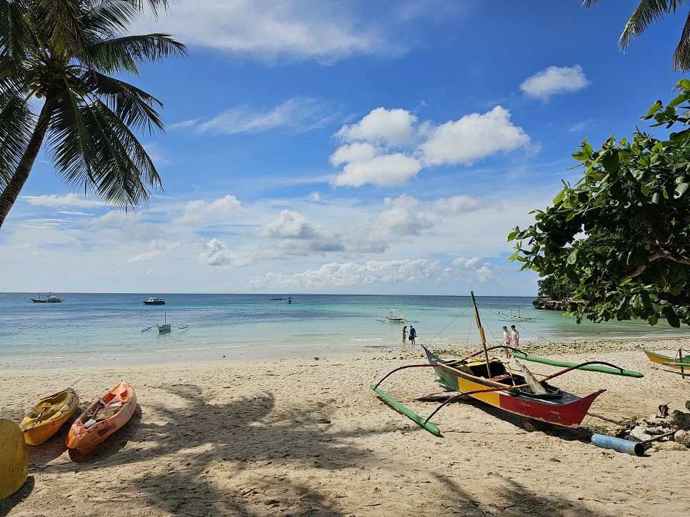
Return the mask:
<path id="1" fill-rule="evenodd" d="M 148 4 L 156 15 L 168 2 Z M 0 227 L 44 143 L 68 185 L 118 208 L 163 188 L 132 132 L 162 132 L 163 105 L 114 76 L 186 47 L 169 34 L 122 35 L 143 9 L 141 0 L 0 0 Z"/>

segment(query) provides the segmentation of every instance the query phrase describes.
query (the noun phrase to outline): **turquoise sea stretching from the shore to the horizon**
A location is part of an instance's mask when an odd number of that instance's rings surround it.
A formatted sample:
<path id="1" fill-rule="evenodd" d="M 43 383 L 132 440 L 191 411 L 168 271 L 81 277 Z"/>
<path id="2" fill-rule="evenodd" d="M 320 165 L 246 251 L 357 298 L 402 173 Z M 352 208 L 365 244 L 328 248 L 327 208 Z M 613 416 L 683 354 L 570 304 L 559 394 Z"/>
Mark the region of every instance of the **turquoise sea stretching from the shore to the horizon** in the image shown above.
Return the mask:
<path id="1" fill-rule="evenodd" d="M 41 293 L 42 297 L 46 293 Z M 416 320 L 417 343 L 478 343 L 471 298 L 448 296 L 294 295 L 296 303 L 269 300 L 288 295 L 181 295 L 146 306 L 149 295 L 58 293 L 64 302 L 33 303 L 38 293 L 0 293 L 0 367 L 46 359 L 171 357 L 202 352 L 218 357 L 281 355 L 310 350 L 398 347 L 402 324 L 381 322 L 389 309 Z M 534 316 L 518 324 L 522 342 L 687 336 L 665 322 L 577 325 L 561 312 L 536 310 L 531 297 L 477 297 L 487 342 L 499 342 L 504 314 Z M 173 323 L 169 334 L 151 325 Z M 409 325 L 410 323 L 408 323 Z M 186 328 L 181 328 L 186 326 Z M 136 359 L 139 357 L 139 359 Z M 152 362 L 154 359 L 148 359 Z"/>

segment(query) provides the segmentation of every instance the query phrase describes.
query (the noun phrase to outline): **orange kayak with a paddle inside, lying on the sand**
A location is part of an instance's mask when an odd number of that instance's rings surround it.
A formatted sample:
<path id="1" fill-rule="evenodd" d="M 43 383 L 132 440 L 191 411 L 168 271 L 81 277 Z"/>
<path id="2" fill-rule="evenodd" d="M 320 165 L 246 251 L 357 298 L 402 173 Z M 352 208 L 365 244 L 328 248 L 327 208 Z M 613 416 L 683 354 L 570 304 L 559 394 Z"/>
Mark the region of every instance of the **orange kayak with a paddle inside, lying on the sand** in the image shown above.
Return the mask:
<path id="1" fill-rule="evenodd" d="M 81 454 L 89 454 L 108 436 L 126 424 L 136 409 L 136 393 L 124 381 L 99 397 L 74 421 L 66 444 Z"/>

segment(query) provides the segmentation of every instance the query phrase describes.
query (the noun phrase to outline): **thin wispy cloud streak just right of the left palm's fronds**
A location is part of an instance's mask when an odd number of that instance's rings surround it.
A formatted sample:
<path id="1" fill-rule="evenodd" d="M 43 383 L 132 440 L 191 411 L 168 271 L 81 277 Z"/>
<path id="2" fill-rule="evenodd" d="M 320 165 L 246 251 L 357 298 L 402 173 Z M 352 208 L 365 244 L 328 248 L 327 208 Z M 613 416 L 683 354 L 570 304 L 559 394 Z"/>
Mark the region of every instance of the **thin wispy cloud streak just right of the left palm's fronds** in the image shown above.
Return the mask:
<path id="1" fill-rule="evenodd" d="M 183 121 L 174 127 L 194 128 L 196 133 L 212 135 L 262 133 L 277 128 L 306 131 L 324 126 L 331 117 L 329 110 L 316 99 L 294 97 L 267 111 L 239 106 L 224 111 L 209 121 Z"/>

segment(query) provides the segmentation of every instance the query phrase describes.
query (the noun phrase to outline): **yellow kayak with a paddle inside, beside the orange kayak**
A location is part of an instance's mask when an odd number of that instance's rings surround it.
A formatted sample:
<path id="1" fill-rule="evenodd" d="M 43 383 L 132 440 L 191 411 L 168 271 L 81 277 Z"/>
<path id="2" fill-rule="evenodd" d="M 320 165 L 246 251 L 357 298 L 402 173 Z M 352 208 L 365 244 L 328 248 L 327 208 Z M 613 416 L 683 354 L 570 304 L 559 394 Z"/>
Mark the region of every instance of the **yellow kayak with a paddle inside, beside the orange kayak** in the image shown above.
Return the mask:
<path id="1" fill-rule="evenodd" d="M 19 424 L 26 443 L 42 444 L 61 428 L 78 406 L 79 396 L 71 388 L 39 400 Z"/>

